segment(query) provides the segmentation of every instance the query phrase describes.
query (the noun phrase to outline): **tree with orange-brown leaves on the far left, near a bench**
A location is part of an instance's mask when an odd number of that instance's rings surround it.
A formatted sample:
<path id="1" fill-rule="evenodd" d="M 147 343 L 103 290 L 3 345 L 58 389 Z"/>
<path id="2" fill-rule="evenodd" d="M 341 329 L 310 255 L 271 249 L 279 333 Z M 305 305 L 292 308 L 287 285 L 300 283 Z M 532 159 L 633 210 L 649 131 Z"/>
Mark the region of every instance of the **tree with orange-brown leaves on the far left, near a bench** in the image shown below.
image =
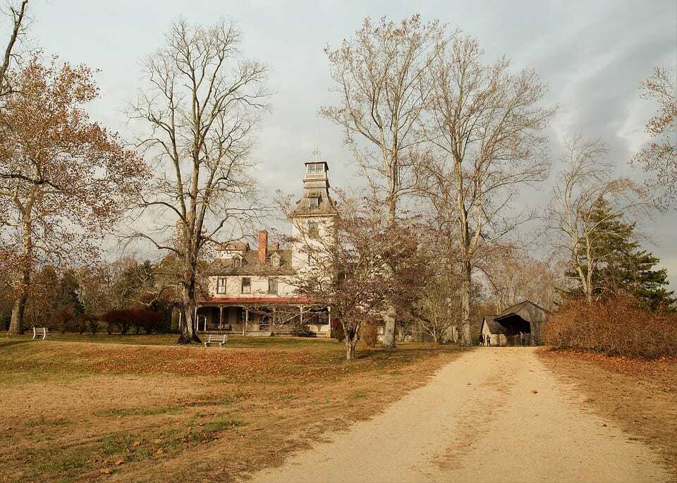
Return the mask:
<path id="1" fill-rule="evenodd" d="M 89 68 L 36 57 L 7 76 L 16 90 L 0 111 L 0 252 L 16 295 L 10 331 L 20 333 L 32 271 L 92 262 L 145 165 L 87 116 L 98 96 Z"/>

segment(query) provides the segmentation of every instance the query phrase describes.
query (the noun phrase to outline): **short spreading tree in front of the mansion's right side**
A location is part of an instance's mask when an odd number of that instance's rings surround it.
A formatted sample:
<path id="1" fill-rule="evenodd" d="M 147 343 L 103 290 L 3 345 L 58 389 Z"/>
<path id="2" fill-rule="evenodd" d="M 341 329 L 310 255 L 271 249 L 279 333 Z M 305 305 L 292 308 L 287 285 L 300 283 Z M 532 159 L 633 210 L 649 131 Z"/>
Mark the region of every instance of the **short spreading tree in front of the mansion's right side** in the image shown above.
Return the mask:
<path id="1" fill-rule="evenodd" d="M 300 235 L 291 241 L 310 263 L 291 283 L 299 295 L 331 307 L 346 336 L 346 360 L 352 360 L 360 327 L 377 325 L 386 303 L 410 301 L 422 270 L 411 227 L 391 226 L 382 202 L 338 197 L 338 216 L 324 224 L 321 236 L 298 227 Z M 397 273 L 389 269 L 394 263 Z"/>

